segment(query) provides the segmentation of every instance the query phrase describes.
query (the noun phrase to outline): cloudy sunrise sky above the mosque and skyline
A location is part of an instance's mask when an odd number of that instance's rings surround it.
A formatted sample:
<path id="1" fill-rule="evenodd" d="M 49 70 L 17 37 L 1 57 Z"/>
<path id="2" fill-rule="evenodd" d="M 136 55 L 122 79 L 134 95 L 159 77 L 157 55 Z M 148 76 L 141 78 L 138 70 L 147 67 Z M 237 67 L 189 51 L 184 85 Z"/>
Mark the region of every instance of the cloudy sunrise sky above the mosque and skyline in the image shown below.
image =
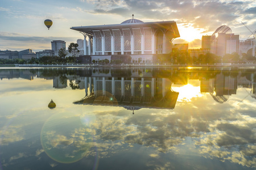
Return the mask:
<path id="1" fill-rule="evenodd" d="M 71 27 L 119 24 L 132 14 L 143 22 L 174 20 L 180 32 L 174 44 L 189 43 L 191 49 L 200 48 L 201 37 L 221 25 L 228 25 L 240 40 L 256 29 L 255 0 L 1 0 L 0 50 L 38 52 L 51 49 L 52 40 L 64 40 L 68 46 L 83 39 Z M 49 30 L 46 19 L 53 22 Z"/>

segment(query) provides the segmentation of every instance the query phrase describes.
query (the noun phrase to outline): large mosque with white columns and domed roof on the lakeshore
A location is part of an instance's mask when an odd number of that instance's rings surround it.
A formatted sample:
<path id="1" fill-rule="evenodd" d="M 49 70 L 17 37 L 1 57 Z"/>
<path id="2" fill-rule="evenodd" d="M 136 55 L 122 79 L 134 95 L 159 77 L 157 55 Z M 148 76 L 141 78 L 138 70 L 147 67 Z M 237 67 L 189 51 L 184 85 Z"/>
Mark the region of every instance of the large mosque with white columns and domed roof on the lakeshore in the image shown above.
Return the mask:
<path id="1" fill-rule="evenodd" d="M 122 59 L 147 63 L 171 53 L 172 40 L 180 37 L 176 22 L 142 22 L 132 16 L 121 24 L 72 27 L 84 35 L 84 56 L 80 57 L 86 62 Z"/>

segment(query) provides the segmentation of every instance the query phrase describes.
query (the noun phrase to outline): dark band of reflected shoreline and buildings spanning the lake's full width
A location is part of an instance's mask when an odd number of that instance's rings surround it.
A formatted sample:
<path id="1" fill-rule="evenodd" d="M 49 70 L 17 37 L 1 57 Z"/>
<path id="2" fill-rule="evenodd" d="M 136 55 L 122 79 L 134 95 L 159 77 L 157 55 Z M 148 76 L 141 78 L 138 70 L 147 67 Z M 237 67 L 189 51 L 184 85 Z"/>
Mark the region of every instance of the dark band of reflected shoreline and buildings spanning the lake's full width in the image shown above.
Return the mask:
<path id="1" fill-rule="evenodd" d="M 200 80 L 200 92 L 210 94 L 218 103 L 225 103 L 238 88 L 248 88 L 249 95 L 256 99 L 256 74 L 254 70 L 180 70 L 161 68 L 94 68 L 94 69 L 2 69 L 0 78 L 44 78 L 53 81 L 53 88 L 85 89 L 85 99 L 105 101 L 112 96 L 115 105 L 137 107 L 174 108 L 177 93 L 172 84 L 185 85 L 189 79 Z M 170 97 L 171 103 L 167 105 Z M 94 99 L 95 98 L 95 99 Z M 111 98 L 111 97 L 110 97 Z M 84 99 L 84 100 L 85 100 Z M 101 99 L 101 100 L 100 100 Z M 169 100 L 169 99 L 168 99 Z M 166 104 L 164 102 L 166 101 Z M 111 103 L 111 102 L 110 102 Z M 108 103 L 105 103 L 108 104 Z M 153 106 L 152 106 L 153 107 Z"/>

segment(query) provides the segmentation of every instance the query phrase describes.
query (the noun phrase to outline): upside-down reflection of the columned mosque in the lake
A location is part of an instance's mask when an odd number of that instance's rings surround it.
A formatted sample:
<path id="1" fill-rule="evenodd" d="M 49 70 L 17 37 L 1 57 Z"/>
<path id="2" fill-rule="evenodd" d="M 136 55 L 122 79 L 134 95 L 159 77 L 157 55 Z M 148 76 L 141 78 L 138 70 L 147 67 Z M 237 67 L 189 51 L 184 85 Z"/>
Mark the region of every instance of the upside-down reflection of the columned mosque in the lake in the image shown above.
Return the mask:
<path id="1" fill-rule="evenodd" d="M 75 104 L 113 105 L 129 110 L 174 109 L 179 95 L 167 78 L 86 77 L 85 97 Z"/>

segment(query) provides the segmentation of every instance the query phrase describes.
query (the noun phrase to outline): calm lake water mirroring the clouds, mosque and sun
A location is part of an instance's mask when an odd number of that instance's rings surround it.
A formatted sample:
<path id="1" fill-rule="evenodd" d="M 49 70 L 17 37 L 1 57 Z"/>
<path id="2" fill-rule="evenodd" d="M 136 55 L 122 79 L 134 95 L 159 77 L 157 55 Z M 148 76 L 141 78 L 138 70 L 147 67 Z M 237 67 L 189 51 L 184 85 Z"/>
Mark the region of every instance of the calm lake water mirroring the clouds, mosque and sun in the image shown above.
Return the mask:
<path id="1" fill-rule="evenodd" d="M 0 78 L 0 169 L 256 168 L 255 69 L 0 69 Z"/>

